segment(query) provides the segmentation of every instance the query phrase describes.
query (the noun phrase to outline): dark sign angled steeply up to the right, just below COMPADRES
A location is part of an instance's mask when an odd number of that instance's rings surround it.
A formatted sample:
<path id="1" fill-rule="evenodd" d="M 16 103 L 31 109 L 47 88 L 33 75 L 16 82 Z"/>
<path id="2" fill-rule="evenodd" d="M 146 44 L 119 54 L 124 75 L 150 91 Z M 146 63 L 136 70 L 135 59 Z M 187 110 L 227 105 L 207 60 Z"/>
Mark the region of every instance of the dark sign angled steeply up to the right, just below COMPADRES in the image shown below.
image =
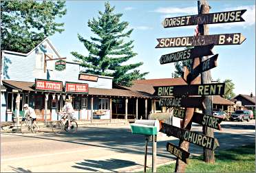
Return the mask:
<path id="1" fill-rule="evenodd" d="M 185 68 L 183 77 L 184 80 L 188 84 L 190 84 L 192 80 L 194 80 L 196 77 L 200 75 L 200 73 L 217 67 L 217 56 L 219 56 L 219 54 L 216 54 L 215 56 L 212 56 L 211 58 L 204 60 L 200 63 L 200 65 L 198 65 L 198 67 L 195 67 L 195 69 L 193 69 L 190 73 L 189 69 Z"/>

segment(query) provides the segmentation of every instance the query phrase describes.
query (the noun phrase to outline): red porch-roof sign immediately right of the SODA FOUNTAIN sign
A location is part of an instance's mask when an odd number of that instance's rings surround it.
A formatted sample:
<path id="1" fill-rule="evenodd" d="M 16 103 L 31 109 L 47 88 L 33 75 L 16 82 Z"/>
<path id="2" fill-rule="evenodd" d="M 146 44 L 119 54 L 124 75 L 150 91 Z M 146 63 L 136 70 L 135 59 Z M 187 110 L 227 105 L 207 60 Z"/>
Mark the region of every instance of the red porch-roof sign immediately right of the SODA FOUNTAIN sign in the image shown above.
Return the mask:
<path id="1" fill-rule="evenodd" d="M 88 84 L 75 82 L 66 82 L 65 84 L 65 92 L 67 93 L 88 93 L 88 91 Z"/>

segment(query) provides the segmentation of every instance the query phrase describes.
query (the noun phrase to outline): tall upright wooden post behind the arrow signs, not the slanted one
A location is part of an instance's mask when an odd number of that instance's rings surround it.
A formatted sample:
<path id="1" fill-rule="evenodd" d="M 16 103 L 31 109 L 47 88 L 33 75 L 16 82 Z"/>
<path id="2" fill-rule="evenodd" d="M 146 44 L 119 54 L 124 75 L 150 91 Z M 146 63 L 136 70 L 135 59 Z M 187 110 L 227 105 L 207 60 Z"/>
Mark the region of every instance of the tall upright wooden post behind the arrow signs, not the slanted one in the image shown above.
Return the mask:
<path id="1" fill-rule="evenodd" d="M 206 0 L 200 0 L 200 14 L 208 14 L 210 11 L 209 4 Z M 209 35 L 209 25 L 198 25 L 198 31 L 200 32 L 200 35 Z M 207 60 L 209 57 L 204 56 L 200 57 L 200 62 Z M 204 71 L 201 73 L 201 83 L 202 84 L 210 84 L 211 83 L 211 71 Z M 211 96 L 205 96 L 204 104 L 206 106 L 206 109 L 203 110 L 203 113 L 206 115 L 212 115 L 212 100 Z M 206 126 L 203 126 L 203 134 L 209 137 L 214 137 L 213 134 L 213 128 L 209 128 Z M 207 148 L 204 148 L 204 161 L 206 163 L 214 163 L 215 157 L 214 157 L 214 151 L 209 150 Z"/>

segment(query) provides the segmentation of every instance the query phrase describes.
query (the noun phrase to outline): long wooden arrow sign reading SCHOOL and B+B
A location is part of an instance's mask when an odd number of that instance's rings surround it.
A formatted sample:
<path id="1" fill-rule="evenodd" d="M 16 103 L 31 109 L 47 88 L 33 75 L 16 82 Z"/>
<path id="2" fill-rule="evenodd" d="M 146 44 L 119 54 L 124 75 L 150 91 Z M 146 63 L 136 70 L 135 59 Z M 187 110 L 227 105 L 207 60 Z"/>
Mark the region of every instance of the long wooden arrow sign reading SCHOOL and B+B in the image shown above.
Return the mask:
<path id="1" fill-rule="evenodd" d="M 245 39 L 246 38 L 241 33 L 156 38 L 158 41 L 156 48 L 202 46 L 211 44 L 241 45 Z"/>

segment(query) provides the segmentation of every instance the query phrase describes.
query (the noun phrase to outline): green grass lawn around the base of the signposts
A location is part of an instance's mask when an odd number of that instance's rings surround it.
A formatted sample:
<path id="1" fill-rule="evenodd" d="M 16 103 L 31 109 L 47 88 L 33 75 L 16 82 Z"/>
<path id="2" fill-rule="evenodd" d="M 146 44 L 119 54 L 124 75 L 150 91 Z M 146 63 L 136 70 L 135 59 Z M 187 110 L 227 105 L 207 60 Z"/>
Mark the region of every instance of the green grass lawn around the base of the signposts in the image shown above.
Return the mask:
<path id="1" fill-rule="evenodd" d="M 157 168 L 157 172 L 174 170 L 175 163 Z M 151 172 L 151 169 L 147 172 Z M 186 172 L 255 172 L 255 143 L 230 150 L 216 150 L 213 165 L 202 161 L 202 156 L 189 157 Z"/>

